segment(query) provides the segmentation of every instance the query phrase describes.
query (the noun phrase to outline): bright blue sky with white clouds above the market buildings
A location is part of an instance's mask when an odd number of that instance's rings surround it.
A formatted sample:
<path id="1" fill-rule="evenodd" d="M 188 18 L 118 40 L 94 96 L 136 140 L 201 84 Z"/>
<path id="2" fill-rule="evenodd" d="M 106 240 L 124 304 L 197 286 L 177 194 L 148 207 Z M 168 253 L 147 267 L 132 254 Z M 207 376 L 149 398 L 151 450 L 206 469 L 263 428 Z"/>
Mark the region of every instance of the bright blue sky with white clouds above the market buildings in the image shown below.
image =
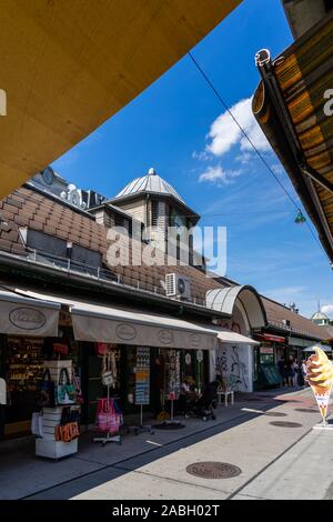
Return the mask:
<path id="1" fill-rule="evenodd" d="M 259 82 L 255 52 L 268 48 L 274 57 L 291 42 L 280 0 L 244 0 L 192 53 L 299 201 L 250 110 Z M 203 225 L 228 228 L 229 278 L 280 302 L 294 301 L 305 315 L 320 299 L 333 317 L 326 257 L 307 227 L 294 223 L 295 209 L 188 56 L 53 163 L 78 187 L 108 197 L 150 167 L 202 215 Z"/>

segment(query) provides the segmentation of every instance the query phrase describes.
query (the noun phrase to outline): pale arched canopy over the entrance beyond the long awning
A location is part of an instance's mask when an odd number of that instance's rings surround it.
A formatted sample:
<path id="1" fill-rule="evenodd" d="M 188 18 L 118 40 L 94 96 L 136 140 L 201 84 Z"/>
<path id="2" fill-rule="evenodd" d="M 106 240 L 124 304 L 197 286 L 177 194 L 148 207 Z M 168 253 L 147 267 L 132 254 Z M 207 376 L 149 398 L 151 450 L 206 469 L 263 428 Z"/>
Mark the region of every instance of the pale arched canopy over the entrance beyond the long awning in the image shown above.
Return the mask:
<path id="1" fill-rule="evenodd" d="M 223 289 L 209 290 L 205 294 L 206 305 L 229 315 L 233 315 L 239 302 L 251 328 L 263 328 L 268 324 L 266 313 L 262 300 L 253 287 L 238 285 Z"/>

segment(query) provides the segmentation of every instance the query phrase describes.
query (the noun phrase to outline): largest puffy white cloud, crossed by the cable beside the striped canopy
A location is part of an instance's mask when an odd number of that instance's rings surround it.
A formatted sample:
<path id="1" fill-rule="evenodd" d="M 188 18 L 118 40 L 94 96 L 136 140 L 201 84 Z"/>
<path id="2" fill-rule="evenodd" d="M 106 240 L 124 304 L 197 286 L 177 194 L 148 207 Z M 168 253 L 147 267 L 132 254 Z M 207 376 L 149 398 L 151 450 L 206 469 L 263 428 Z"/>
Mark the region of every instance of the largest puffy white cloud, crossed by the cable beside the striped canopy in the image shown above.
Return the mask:
<path id="1" fill-rule="evenodd" d="M 264 133 L 256 123 L 256 120 L 252 113 L 252 98 L 240 100 L 230 111 L 240 126 L 244 129 L 254 145 L 261 151 L 265 152 L 271 150 L 271 145 L 268 142 Z M 206 151 L 214 155 L 222 157 L 234 145 L 239 145 L 242 151 L 252 151 L 253 148 L 244 137 L 241 129 L 234 122 L 228 111 L 216 118 L 211 124 L 208 139 L 210 143 L 206 145 Z"/>

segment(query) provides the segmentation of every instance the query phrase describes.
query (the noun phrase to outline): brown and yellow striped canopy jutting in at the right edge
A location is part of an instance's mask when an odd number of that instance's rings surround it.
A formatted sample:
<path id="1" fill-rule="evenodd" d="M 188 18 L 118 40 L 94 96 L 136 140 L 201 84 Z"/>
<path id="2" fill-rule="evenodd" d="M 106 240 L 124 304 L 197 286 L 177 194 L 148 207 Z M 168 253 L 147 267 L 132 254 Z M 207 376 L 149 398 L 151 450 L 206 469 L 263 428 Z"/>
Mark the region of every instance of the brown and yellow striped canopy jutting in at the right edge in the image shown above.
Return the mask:
<path id="1" fill-rule="evenodd" d="M 326 91 L 333 89 L 332 49 L 333 13 L 274 62 L 259 63 L 263 81 L 253 99 L 253 112 L 285 167 L 331 261 L 333 116 L 325 114 L 324 106 Z M 314 175 L 321 181 L 314 181 Z"/>

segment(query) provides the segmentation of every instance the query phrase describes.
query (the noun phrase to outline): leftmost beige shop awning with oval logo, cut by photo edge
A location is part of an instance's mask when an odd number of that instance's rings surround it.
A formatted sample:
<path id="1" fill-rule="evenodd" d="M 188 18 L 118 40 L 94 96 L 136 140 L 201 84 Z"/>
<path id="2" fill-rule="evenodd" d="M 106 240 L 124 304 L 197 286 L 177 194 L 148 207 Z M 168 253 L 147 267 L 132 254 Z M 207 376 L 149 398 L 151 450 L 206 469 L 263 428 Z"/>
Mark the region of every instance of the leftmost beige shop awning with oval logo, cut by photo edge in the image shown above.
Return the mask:
<path id="1" fill-rule="evenodd" d="M 60 304 L 0 291 L 0 332 L 14 335 L 57 337 Z"/>

